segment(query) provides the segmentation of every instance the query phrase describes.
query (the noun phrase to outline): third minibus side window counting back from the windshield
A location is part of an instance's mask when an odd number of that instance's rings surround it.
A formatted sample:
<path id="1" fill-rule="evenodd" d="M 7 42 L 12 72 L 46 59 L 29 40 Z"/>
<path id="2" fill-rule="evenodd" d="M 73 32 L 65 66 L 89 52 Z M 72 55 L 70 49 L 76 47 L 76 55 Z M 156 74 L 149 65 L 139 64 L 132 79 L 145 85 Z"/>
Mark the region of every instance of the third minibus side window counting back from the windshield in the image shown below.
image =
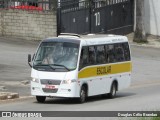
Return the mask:
<path id="1" fill-rule="evenodd" d="M 106 59 L 105 59 L 105 49 L 104 46 L 96 46 L 96 55 L 97 55 L 97 64 L 104 64 L 106 63 Z"/>

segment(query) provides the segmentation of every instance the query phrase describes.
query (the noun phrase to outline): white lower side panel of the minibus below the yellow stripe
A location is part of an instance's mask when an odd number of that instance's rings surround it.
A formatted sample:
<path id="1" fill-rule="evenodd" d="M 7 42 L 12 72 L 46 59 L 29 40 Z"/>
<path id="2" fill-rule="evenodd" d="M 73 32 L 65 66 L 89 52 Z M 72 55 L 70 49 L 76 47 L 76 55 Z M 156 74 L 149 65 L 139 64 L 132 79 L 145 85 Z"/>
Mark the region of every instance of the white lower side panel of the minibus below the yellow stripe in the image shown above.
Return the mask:
<path id="1" fill-rule="evenodd" d="M 118 83 L 118 90 L 128 88 L 131 83 L 130 73 L 109 75 L 107 77 L 86 78 L 81 80 L 81 83 L 87 83 L 88 96 L 94 96 L 109 93 L 114 81 Z"/>

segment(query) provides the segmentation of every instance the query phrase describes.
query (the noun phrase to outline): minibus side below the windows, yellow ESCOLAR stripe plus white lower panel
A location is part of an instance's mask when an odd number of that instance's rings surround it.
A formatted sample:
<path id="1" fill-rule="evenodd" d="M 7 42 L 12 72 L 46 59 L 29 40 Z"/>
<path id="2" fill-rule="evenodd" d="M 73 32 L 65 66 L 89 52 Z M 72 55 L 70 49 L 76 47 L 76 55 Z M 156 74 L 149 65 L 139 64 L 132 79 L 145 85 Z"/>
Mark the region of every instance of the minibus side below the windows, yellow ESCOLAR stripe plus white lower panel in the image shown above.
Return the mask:
<path id="1" fill-rule="evenodd" d="M 98 72 L 99 69 L 101 74 Z M 86 67 L 79 72 L 78 78 L 81 84 L 87 83 L 88 96 L 93 96 L 109 93 L 113 81 L 118 82 L 118 90 L 129 87 L 130 74 L 131 62 L 123 62 Z"/>

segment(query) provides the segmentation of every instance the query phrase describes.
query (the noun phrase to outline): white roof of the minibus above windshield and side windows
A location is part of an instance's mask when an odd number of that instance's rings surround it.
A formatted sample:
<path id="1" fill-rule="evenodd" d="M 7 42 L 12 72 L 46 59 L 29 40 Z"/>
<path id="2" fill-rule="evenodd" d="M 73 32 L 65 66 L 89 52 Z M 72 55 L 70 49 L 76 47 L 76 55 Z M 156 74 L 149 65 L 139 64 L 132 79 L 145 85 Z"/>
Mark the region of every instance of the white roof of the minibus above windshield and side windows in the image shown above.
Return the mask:
<path id="1" fill-rule="evenodd" d="M 82 45 L 98 45 L 128 42 L 127 37 L 121 35 L 106 35 L 106 34 L 88 34 L 88 35 L 60 35 L 58 37 L 51 37 L 44 40 L 44 42 L 52 41 L 67 41 L 67 42 L 81 42 Z"/>

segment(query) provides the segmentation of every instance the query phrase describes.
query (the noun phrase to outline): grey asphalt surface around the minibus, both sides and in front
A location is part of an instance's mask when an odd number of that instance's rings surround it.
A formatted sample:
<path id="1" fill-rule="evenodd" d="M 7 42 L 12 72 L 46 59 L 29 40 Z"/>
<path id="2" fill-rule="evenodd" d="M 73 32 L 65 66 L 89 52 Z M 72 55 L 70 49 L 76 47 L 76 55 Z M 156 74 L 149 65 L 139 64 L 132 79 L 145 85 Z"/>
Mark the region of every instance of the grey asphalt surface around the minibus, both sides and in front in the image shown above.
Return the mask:
<path id="1" fill-rule="evenodd" d="M 33 54 L 39 42 L 4 40 L 0 38 L 0 86 L 8 91 L 30 95 L 28 85 L 21 81 L 30 79 L 27 54 Z M 47 99 L 39 104 L 34 98 L 0 104 L 0 110 L 40 111 L 117 111 L 160 109 L 160 49 L 132 46 L 133 73 L 129 89 L 119 91 L 115 99 L 91 97 L 85 104 L 70 99 Z"/>

